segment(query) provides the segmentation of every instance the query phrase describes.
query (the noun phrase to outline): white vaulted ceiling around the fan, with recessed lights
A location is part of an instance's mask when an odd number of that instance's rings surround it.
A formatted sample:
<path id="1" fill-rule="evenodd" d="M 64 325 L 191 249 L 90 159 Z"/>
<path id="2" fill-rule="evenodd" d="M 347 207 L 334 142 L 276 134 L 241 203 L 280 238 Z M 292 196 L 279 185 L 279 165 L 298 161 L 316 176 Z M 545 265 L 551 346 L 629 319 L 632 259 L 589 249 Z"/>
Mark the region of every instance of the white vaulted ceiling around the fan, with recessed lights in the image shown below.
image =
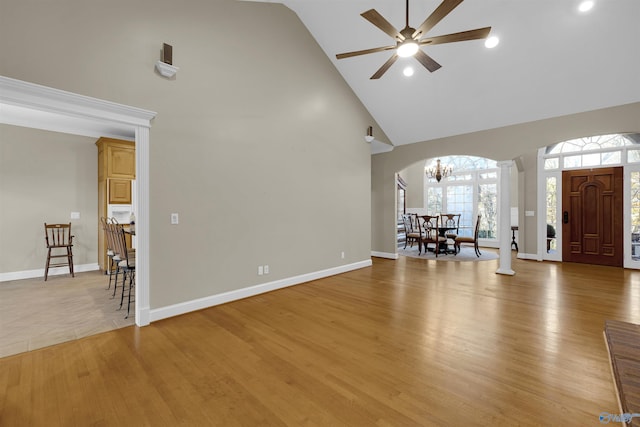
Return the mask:
<path id="1" fill-rule="evenodd" d="M 393 45 L 360 16 L 376 9 L 398 30 L 404 0 L 259 0 L 281 2 L 309 29 L 394 145 L 524 123 L 640 101 L 640 0 L 467 0 L 427 35 L 491 26 L 483 40 L 422 49 L 442 65 L 429 73 L 399 59 L 379 80 L 369 77 L 391 52 L 337 60 L 338 53 Z M 419 26 L 441 0 L 410 0 Z M 415 74 L 404 77 L 412 65 Z"/>

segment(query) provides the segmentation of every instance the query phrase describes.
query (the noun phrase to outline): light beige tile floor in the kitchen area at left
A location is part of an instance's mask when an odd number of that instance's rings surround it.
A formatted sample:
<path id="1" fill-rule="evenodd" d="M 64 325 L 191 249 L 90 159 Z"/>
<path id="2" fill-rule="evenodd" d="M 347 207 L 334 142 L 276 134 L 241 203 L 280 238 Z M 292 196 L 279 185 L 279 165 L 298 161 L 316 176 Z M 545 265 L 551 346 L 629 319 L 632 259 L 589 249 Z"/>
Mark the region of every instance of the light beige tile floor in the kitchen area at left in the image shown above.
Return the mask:
<path id="1" fill-rule="evenodd" d="M 108 281 L 92 271 L 0 283 L 0 357 L 133 325 Z"/>

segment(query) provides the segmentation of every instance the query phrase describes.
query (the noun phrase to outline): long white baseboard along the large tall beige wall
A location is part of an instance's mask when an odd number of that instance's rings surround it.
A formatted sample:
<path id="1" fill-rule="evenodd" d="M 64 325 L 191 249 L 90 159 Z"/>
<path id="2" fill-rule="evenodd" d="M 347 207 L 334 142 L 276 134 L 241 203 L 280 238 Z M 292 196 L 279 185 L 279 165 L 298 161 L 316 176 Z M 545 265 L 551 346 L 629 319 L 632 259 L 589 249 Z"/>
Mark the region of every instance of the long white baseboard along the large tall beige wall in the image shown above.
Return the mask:
<path id="1" fill-rule="evenodd" d="M 215 305 L 247 298 L 265 292 L 275 291 L 300 283 L 309 282 L 311 280 L 322 279 L 324 277 L 334 276 L 347 271 L 357 270 L 371 266 L 371 259 L 356 262 L 353 264 L 341 265 L 326 270 L 316 271 L 313 273 L 302 274 L 300 276 L 289 277 L 286 279 L 275 280 L 273 282 L 262 283 L 259 285 L 249 286 L 248 288 L 238 289 L 235 291 L 224 292 L 217 295 L 211 295 L 204 298 L 198 298 L 191 301 L 185 301 L 179 304 L 173 304 L 166 307 L 154 308 L 149 310 L 148 320 L 155 322 L 157 320 L 166 319 L 168 317 L 179 316 L 191 311 L 202 310 L 204 308 L 213 307 Z M 145 317 L 147 313 L 145 312 Z"/>

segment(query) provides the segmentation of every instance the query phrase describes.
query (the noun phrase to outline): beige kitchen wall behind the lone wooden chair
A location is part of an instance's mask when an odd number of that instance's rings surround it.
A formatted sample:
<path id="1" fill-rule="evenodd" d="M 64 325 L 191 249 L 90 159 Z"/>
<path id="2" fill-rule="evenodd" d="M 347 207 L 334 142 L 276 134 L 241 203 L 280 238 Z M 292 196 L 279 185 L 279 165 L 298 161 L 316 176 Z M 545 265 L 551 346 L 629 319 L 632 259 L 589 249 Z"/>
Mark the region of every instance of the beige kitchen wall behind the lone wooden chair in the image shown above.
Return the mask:
<path id="1" fill-rule="evenodd" d="M 75 265 L 98 262 L 94 142 L 0 124 L 0 273 L 44 268 L 45 222 L 71 222 Z"/>

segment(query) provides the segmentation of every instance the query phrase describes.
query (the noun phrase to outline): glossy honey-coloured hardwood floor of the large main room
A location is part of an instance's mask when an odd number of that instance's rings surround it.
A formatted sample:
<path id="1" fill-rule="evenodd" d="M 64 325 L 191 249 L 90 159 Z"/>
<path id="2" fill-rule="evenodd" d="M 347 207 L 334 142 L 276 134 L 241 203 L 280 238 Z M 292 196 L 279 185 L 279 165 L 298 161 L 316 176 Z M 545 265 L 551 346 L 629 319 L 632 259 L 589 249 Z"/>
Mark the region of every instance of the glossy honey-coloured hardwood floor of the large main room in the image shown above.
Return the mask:
<path id="1" fill-rule="evenodd" d="M 373 266 L 0 359 L 2 425 L 600 425 L 640 272 Z"/>

